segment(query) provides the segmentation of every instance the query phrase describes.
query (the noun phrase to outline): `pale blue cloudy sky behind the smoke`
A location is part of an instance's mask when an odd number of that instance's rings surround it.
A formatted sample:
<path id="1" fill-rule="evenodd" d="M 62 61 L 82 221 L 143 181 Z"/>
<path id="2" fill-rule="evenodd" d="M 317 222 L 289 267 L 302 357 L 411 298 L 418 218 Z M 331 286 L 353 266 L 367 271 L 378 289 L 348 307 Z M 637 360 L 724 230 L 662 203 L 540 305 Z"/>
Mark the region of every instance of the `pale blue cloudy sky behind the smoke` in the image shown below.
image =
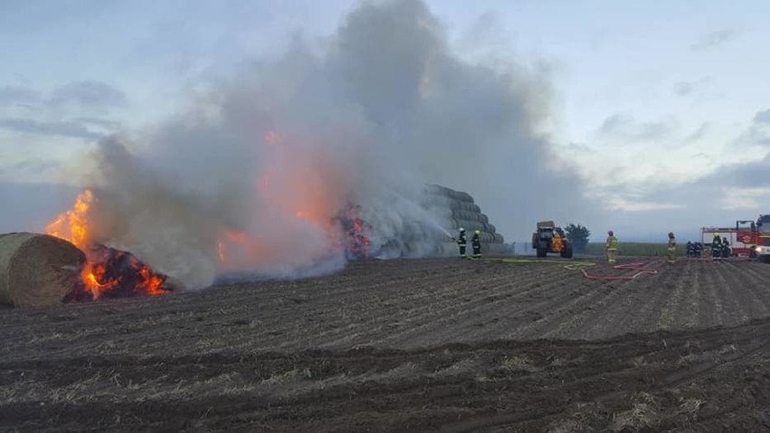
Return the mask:
<path id="1" fill-rule="evenodd" d="M 66 206 L 62 185 L 78 184 L 100 138 L 141 136 L 298 37 L 323 47 L 360 3 L 0 2 L 0 198 L 12 203 L 0 231 L 32 230 Z M 456 58 L 513 62 L 548 82 L 539 133 L 595 208 L 562 223 L 587 225 L 596 240 L 614 229 L 621 240 L 663 241 L 770 212 L 767 2 L 425 4 Z M 490 218 L 508 240 L 531 231 L 502 211 Z"/>

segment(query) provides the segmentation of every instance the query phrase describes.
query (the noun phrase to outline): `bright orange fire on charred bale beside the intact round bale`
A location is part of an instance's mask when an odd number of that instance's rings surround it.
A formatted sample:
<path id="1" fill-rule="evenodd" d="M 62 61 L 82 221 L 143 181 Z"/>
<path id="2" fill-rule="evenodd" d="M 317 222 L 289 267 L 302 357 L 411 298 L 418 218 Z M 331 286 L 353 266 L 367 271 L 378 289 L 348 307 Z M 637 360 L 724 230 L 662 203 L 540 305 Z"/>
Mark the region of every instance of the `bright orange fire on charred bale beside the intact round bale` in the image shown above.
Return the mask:
<path id="1" fill-rule="evenodd" d="M 68 300 L 128 297 L 137 294 L 164 295 L 165 278 L 126 251 L 99 245 L 89 230 L 89 216 L 95 202 L 90 190 L 80 193 L 67 212 L 62 213 L 45 232 L 69 240 L 86 254 L 86 264 L 80 272 L 81 290 Z"/>

